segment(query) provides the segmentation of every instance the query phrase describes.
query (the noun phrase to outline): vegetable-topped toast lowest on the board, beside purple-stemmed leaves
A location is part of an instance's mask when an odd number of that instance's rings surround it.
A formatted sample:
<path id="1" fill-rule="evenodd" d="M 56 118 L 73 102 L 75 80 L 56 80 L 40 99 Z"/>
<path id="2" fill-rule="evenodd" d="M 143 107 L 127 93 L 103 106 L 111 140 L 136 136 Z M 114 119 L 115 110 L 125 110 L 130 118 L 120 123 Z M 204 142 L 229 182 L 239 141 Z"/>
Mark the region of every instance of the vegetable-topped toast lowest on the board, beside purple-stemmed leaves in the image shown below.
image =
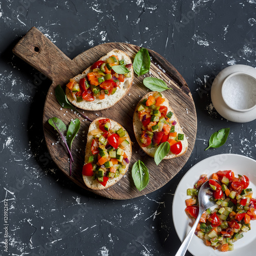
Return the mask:
<path id="1" fill-rule="evenodd" d="M 95 119 L 88 131 L 83 181 L 89 188 L 105 189 L 126 173 L 132 157 L 129 134 L 108 118 Z"/>

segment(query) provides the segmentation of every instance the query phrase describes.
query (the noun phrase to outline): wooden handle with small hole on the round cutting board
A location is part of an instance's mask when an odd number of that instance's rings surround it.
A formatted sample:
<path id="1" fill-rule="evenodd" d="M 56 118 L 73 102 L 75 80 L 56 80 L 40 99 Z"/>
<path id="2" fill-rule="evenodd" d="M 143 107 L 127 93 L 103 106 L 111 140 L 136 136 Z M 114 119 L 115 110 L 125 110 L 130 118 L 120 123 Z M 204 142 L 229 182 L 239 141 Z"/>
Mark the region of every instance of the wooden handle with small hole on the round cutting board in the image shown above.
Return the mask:
<path id="1" fill-rule="evenodd" d="M 19 40 L 12 51 L 52 81 L 58 81 L 60 76 L 61 80 L 72 77 L 72 60 L 35 27 Z"/>

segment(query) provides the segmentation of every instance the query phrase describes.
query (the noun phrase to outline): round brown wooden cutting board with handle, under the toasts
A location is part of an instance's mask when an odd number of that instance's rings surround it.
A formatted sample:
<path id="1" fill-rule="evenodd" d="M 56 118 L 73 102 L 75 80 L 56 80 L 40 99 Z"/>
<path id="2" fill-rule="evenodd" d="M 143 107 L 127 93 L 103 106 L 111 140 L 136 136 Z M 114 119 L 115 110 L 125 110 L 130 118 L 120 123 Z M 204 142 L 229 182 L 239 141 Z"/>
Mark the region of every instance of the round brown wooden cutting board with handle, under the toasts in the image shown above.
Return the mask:
<path id="1" fill-rule="evenodd" d="M 49 88 L 43 116 L 43 127 L 46 139 L 46 144 L 53 161 L 58 168 L 65 173 L 72 181 L 84 189 L 89 189 L 83 183 L 82 179 L 82 166 L 84 164 L 84 151 L 86 148 L 87 133 L 90 122 L 82 121 L 82 117 L 78 117 L 68 109 L 61 109 L 61 106 L 57 102 L 54 89 L 60 84 L 62 88 L 65 88 L 69 79 L 75 75 L 81 73 L 83 70 L 91 66 L 101 56 L 110 52 L 113 49 L 120 49 L 126 52 L 132 59 L 140 49 L 138 46 L 125 44 L 120 42 L 110 42 L 95 46 L 74 59 L 70 59 L 63 52 L 61 52 L 44 34 L 42 34 L 36 28 L 31 28 L 30 31 L 18 42 L 14 47 L 13 53 L 18 57 L 28 62 L 32 67 L 40 71 L 52 80 L 52 84 Z M 97 117 L 107 117 L 118 121 L 125 127 L 127 132 L 134 142 L 133 156 L 129 167 L 129 172 L 118 183 L 103 190 L 91 190 L 95 194 L 112 199 L 130 199 L 139 197 L 155 191 L 162 187 L 170 179 L 172 179 L 182 168 L 182 166 L 188 160 L 196 140 L 197 133 L 197 115 L 193 98 L 190 94 L 188 86 L 183 77 L 177 72 L 177 70 L 170 65 L 166 59 L 160 56 L 158 53 L 148 50 L 151 61 L 151 72 L 153 77 L 163 79 L 168 87 L 173 90 L 166 90 L 163 94 L 169 99 L 175 114 L 179 118 L 180 124 L 183 127 L 185 135 L 188 137 L 188 150 L 185 155 L 170 159 L 163 160 L 158 166 L 155 164 L 154 159 L 145 155 L 135 139 L 133 132 L 133 113 L 135 106 L 140 98 L 148 91 L 144 87 L 142 81 L 144 76 L 138 77 L 135 75 L 134 83 L 130 90 L 130 96 L 126 95 L 116 105 L 112 106 L 109 110 L 102 111 L 84 111 L 84 114 L 90 119 Z M 149 76 L 146 74 L 145 76 Z M 66 113 L 66 111 L 68 113 Z M 67 126 L 71 119 L 79 118 L 81 127 L 78 132 L 78 136 L 74 139 L 72 146 L 72 155 L 74 163 L 72 165 L 72 175 L 69 176 L 69 163 L 68 152 L 65 145 L 61 143 L 54 144 L 57 141 L 56 131 L 48 123 L 49 118 L 58 117 Z M 142 160 L 150 171 L 150 182 L 145 189 L 138 191 L 134 185 L 132 179 L 132 166 L 137 160 Z M 84 190 L 86 194 L 86 190 Z"/>

